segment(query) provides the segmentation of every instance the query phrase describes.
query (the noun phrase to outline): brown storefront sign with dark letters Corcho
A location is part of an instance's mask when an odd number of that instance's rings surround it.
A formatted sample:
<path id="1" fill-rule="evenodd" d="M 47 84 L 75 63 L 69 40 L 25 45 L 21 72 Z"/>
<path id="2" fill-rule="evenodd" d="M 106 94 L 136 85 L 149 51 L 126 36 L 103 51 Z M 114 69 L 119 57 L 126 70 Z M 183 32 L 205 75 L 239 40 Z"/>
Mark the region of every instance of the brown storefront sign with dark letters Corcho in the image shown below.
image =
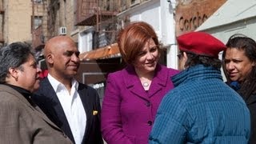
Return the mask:
<path id="1" fill-rule="evenodd" d="M 176 7 L 176 36 L 194 31 L 226 0 L 178 0 Z"/>

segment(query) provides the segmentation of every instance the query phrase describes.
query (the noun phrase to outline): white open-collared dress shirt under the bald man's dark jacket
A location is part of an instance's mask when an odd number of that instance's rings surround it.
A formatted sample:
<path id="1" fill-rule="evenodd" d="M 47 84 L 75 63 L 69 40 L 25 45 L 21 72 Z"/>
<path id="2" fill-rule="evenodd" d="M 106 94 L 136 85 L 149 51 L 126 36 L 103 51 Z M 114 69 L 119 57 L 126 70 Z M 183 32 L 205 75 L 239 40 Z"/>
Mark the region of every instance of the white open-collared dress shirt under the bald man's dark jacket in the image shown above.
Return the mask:
<path id="1" fill-rule="evenodd" d="M 74 142 L 76 144 L 82 143 L 82 138 L 86 130 L 86 111 L 82 106 L 82 101 L 78 94 L 78 82 L 73 79 L 69 93 L 66 87 L 50 74 L 48 74 L 47 78 L 51 86 L 53 86 L 59 102 L 61 102 L 62 109 L 64 110 L 74 137 Z"/>

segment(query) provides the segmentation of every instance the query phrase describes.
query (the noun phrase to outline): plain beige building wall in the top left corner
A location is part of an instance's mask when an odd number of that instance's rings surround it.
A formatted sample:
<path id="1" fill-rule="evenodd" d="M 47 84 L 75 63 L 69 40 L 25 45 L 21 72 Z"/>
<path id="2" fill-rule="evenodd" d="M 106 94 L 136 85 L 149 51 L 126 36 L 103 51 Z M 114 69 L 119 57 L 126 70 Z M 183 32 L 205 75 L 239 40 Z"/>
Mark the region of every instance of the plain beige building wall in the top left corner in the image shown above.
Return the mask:
<path id="1" fill-rule="evenodd" d="M 1 3 L 1 44 L 11 42 L 31 42 L 31 15 L 30 1 L 7 1 Z"/>

